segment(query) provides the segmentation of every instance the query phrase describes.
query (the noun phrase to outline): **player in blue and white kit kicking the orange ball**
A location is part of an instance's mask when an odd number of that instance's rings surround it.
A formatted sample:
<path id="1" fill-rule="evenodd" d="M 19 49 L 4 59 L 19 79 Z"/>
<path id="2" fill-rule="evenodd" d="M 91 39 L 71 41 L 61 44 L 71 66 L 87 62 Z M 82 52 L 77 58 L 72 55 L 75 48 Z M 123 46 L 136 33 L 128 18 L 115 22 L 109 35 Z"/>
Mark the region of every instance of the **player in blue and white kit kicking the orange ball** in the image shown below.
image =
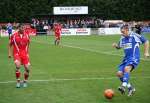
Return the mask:
<path id="1" fill-rule="evenodd" d="M 126 87 L 128 88 L 128 96 L 132 96 L 135 88 L 129 83 L 130 72 L 134 70 L 140 62 L 140 44 L 144 44 L 144 56 L 149 57 L 149 41 L 142 35 L 130 32 L 127 25 L 121 27 L 122 36 L 119 43 L 113 43 L 116 49 L 124 49 L 124 58 L 118 67 L 117 76 L 121 80 L 121 86 L 118 90 L 125 94 Z"/>

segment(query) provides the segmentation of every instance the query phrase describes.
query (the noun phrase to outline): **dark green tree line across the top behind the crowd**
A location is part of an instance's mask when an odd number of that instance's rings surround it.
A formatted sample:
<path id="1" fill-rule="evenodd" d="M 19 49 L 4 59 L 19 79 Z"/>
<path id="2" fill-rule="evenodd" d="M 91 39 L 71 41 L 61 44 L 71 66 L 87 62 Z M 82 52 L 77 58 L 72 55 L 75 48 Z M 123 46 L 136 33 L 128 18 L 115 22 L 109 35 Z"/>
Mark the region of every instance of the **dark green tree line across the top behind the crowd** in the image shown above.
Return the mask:
<path id="1" fill-rule="evenodd" d="M 88 6 L 89 15 L 102 19 L 150 20 L 150 0 L 0 0 L 0 22 L 30 22 L 54 6 Z"/>

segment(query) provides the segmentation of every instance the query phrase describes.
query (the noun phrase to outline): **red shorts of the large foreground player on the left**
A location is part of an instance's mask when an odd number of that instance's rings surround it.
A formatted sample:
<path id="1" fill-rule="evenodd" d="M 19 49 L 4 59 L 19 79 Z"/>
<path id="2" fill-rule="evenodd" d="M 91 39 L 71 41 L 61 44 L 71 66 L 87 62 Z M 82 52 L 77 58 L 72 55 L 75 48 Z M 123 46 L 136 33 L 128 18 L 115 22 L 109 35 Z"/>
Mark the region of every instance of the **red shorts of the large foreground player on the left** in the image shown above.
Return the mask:
<path id="1" fill-rule="evenodd" d="M 22 65 L 30 65 L 28 54 L 14 54 L 14 62 L 21 62 Z"/>

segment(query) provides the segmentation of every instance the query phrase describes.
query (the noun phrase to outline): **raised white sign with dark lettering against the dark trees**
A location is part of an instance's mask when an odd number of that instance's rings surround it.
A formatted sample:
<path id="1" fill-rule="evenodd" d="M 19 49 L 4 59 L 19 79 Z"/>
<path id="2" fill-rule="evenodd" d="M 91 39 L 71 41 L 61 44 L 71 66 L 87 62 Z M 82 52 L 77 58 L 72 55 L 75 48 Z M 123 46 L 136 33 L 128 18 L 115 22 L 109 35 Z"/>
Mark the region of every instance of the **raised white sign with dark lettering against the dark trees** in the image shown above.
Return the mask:
<path id="1" fill-rule="evenodd" d="M 54 15 L 88 14 L 88 6 L 53 7 Z"/>

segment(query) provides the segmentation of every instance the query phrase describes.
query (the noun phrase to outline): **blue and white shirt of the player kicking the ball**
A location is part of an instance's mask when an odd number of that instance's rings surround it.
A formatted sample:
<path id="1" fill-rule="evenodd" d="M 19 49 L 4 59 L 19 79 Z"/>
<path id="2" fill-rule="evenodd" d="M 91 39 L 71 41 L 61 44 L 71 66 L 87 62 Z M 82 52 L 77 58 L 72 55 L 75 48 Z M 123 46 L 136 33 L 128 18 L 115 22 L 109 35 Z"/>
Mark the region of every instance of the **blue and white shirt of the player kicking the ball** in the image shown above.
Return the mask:
<path id="1" fill-rule="evenodd" d="M 119 47 L 124 49 L 124 59 L 140 59 L 139 45 L 147 41 L 144 36 L 130 32 L 129 36 L 121 36 Z"/>

